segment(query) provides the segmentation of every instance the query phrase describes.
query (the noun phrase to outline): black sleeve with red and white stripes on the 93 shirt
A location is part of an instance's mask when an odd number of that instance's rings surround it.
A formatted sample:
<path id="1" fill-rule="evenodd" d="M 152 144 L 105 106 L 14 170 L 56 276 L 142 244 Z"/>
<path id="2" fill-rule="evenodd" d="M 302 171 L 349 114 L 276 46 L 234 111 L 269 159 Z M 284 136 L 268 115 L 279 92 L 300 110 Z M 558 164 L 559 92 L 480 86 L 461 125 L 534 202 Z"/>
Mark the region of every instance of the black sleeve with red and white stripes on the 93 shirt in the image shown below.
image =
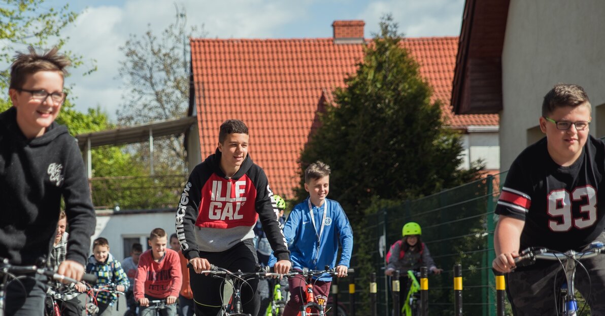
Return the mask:
<path id="1" fill-rule="evenodd" d="M 495 213 L 525 221 L 531 207 L 531 183 L 518 158 L 506 175 Z"/>

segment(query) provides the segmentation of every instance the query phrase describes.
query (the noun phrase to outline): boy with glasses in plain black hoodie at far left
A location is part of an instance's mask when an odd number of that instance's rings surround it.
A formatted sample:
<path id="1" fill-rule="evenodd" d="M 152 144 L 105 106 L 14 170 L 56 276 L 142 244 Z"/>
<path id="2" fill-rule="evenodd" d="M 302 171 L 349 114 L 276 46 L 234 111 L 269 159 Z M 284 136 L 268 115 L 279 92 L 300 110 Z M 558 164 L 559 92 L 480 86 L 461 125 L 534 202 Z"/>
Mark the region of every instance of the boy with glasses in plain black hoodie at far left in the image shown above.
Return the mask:
<path id="1" fill-rule="evenodd" d="M 13 106 L 0 114 L 0 257 L 41 265 L 53 247 L 61 199 L 70 230 L 57 273 L 81 279 L 95 216 L 82 155 L 65 126 L 54 122 L 65 100 L 70 61 L 53 48 L 18 53 L 10 68 Z M 7 285 L 5 315 L 42 315 L 46 277 Z"/>

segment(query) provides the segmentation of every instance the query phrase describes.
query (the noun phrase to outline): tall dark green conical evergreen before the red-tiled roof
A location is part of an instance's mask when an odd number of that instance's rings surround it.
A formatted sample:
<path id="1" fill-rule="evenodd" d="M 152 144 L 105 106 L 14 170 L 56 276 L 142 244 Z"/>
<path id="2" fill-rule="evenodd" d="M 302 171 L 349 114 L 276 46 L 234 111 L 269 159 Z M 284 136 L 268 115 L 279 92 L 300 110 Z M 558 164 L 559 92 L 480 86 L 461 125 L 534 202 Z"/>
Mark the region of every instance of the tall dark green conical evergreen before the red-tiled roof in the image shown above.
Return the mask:
<path id="1" fill-rule="evenodd" d="M 430 195 L 475 179 L 482 169 L 458 169 L 463 147 L 459 134 L 444 127 L 442 103 L 431 102 L 431 87 L 402 47 L 392 18 L 383 18 L 380 27 L 356 73 L 335 90 L 335 104 L 321 115 L 300 158 L 301 182 L 309 163 L 332 166 L 330 196 L 352 221 L 361 219 L 373 197 Z"/>

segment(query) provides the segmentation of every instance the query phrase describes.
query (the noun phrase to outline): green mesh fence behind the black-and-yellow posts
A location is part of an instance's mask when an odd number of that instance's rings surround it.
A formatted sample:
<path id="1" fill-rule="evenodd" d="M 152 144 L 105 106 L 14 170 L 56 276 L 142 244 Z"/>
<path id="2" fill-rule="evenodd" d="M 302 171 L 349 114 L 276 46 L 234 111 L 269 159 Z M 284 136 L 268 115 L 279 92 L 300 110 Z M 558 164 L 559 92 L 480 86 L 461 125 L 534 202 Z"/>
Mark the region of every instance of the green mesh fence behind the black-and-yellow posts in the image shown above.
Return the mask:
<path id="1" fill-rule="evenodd" d="M 363 227 L 354 225 L 353 268 L 364 271 L 356 257 L 359 248 L 369 250 L 373 272 L 378 276 L 378 315 L 391 315 L 390 280 L 384 275 L 384 256 L 391 243 L 401 239 L 401 229 L 409 221 L 422 226 L 422 241 L 437 266 L 444 270 L 439 276 L 428 278 L 429 314 L 454 315 L 453 266 L 460 263 L 463 313 L 495 315 L 495 280 L 491 271 L 494 209 L 505 177 L 506 172 L 422 199 L 405 201 L 368 215 Z M 355 277 L 356 315 L 370 315 L 368 279 L 369 275 L 360 273 Z M 349 308 L 348 280 L 339 280 L 339 289 L 339 301 Z"/>

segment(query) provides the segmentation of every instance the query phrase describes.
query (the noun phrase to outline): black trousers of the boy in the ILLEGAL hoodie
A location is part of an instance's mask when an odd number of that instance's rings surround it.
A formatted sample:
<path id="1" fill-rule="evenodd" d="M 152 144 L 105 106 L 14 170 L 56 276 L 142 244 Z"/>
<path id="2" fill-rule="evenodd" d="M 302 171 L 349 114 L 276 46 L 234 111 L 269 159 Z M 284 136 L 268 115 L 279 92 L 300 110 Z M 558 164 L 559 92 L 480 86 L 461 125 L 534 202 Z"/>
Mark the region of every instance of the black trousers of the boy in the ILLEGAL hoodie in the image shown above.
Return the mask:
<path id="1" fill-rule="evenodd" d="M 229 250 L 221 253 L 208 253 L 200 251 L 200 257 L 207 259 L 210 263 L 229 271 L 253 272 L 257 265 L 257 251 L 252 245 L 252 239 L 244 240 Z M 223 297 L 232 291 L 231 285 L 224 282 L 222 278 L 204 276 L 189 269 L 189 280 L 191 280 L 191 291 L 195 301 L 196 316 L 216 316 L 223 305 Z M 241 287 L 241 303 L 244 313 L 257 315 L 260 308 L 260 298 L 257 293 L 258 279 L 247 280 Z M 226 288 L 227 287 L 227 288 Z M 225 289 L 226 288 L 226 289 Z M 223 290 L 226 290 L 223 292 Z"/>

